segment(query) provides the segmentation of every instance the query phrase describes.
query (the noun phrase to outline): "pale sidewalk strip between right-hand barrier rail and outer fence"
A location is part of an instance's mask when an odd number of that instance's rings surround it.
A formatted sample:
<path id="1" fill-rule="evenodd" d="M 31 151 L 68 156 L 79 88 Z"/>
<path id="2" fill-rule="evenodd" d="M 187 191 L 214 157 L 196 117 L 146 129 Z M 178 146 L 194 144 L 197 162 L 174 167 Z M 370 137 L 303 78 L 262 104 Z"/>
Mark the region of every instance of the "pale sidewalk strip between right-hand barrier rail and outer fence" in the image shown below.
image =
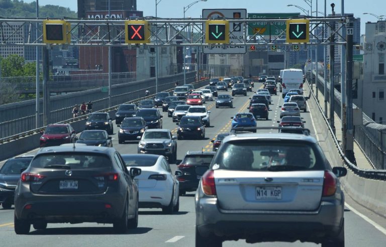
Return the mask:
<path id="1" fill-rule="evenodd" d="M 314 84 L 314 93 L 316 94 L 315 84 Z M 305 94 L 305 95 L 307 95 L 307 94 Z M 318 90 L 318 99 L 319 99 L 319 104 L 324 111 L 324 96 L 320 90 Z M 329 102 L 327 102 L 327 109 L 330 109 Z M 328 114 L 328 116 L 329 116 L 329 114 Z M 336 136 L 336 139 L 341 144 L 342 143 L 342 137 L 343 137 L 342 136 L 342 121 L 339 118 L 339 116 L 336 114 L 336 112 L 334 112 L 334 116 L 335 116 L 334 122 L 335 122 L 335 130 L 336 130 L 335 136 Z M 355 160 L 356 160 L 356 164 L 357 164 L 358 168 L 371 169 L 371 170 L 374 169 L 356 142 L 354 142 L 354 156 L 355 156 Z"/>

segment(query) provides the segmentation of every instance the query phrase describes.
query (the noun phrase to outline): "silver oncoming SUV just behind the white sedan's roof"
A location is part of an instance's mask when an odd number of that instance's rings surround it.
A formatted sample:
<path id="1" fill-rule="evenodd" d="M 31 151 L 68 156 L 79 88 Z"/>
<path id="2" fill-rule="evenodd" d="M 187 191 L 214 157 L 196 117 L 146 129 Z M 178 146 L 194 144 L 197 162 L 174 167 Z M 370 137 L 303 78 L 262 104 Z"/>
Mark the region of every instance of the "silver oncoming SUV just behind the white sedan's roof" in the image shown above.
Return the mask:
<path id="1" fill-rule="evenodd" d="M 137 138 L 138 154 L 157 154 L 168 158 L 169 163 L 177 159 L 177 137 L 171 135 L 170 130 L 151 129 Z"/>

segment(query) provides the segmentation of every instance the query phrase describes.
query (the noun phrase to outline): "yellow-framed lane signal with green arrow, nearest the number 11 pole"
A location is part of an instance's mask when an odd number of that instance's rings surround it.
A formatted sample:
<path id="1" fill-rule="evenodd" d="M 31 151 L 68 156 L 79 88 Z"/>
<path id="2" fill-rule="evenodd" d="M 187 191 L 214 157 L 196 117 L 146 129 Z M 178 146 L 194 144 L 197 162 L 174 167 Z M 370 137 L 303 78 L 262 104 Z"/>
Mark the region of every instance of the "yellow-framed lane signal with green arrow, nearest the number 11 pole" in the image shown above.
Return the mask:
<path id="1" fill-rule="evenodd" d="M 310 41 L 310 21 L 306 19 L 287 20 L 287 43 L 308 43 Z"/>

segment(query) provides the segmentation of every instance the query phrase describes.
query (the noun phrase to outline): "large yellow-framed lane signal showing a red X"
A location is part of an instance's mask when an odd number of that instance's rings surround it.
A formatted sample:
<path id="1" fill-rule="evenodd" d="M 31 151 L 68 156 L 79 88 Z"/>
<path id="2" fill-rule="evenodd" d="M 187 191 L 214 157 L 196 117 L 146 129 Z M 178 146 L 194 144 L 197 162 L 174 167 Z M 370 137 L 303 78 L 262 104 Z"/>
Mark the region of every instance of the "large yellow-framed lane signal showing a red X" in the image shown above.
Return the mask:
<path id="1" fill-rule="evenodd" d="M 150 43 L 149 23 L 147 21 L 125 21 L 125 43 Z"/>

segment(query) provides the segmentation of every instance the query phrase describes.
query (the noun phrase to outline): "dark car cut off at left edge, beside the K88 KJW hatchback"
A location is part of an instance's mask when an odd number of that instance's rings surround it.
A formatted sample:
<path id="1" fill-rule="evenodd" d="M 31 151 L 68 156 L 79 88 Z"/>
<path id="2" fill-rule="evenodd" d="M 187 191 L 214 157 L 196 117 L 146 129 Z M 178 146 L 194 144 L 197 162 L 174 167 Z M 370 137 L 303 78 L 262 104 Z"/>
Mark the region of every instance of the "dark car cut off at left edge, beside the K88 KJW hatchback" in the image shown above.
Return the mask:
<path id="1" fill-rule="evenodd" d="M 4 209 L 10 209 L 14 204 L 15 188 L 22 169 L 27 169 L 33 158 L 34 155 L 11 158 L 0 169 L 0 203 Z"/>

